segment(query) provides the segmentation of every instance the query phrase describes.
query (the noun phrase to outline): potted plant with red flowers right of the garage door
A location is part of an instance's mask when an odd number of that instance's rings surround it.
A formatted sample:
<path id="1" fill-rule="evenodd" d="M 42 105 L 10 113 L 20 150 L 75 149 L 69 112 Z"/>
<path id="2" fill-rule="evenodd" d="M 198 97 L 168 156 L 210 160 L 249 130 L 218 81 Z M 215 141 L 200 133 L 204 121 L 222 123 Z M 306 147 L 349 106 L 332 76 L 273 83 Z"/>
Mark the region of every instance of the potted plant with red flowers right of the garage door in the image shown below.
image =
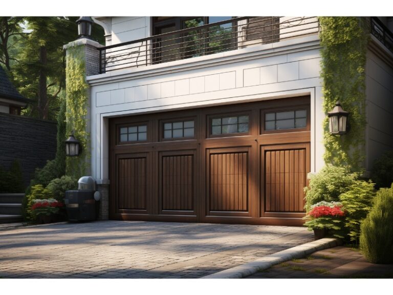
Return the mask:
<path id="1" fill-rule="evenodd" d="M 321 201 L 311 206 L 310 211 L 304 217 L 308 220 L 304 225 L 308 226 L 309 230 L 314 230 L 315 240 L 326 236 L 344 238 L 344 216 L 342 203 Z"/>

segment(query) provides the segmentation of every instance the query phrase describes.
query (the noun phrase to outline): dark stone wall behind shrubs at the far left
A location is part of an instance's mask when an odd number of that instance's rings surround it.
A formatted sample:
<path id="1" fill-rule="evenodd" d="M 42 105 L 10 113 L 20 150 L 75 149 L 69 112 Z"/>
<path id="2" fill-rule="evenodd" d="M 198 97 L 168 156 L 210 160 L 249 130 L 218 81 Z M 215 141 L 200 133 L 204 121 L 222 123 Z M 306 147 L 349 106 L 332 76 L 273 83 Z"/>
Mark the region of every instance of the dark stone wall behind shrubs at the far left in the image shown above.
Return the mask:
<path id="1" fill-rule="evenodd" d="M 0 165 L 18 159 L 28 186 L 35 168 L 55 158 L 56 134 L 56 122 L 0 113 Z"/>

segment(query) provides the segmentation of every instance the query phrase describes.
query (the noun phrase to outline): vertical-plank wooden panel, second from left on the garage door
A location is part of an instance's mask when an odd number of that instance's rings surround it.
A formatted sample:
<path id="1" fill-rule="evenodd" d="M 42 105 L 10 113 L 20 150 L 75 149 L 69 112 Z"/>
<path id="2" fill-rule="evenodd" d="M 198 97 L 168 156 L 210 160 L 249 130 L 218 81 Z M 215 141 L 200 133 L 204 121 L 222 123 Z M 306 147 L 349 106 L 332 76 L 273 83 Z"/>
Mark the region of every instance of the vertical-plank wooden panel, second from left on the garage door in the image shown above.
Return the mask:
<path id="1" fill-rule="evenodd" d="M 160 159 L 160 195 L 162 211 L 193 211 L 195 177 L 194 152 L 193 154 L 186 153 L 183 155 L 163 154 Z M 169 213 L 166 212 L 165 214 Z"/>

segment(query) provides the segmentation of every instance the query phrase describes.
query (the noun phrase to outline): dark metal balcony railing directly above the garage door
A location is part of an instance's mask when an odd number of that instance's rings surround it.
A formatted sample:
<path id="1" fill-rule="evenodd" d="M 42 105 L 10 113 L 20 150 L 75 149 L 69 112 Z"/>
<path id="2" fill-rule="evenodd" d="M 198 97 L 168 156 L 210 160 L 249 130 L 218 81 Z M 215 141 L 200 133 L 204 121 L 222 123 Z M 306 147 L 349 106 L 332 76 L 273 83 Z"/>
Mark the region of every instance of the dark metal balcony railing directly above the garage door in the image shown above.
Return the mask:
<path id="1" fill-rule="evenodd" d="M 237 17 L 99 48 L 100 73 L 242 49 L 319 32 L 317 17 Z"/>

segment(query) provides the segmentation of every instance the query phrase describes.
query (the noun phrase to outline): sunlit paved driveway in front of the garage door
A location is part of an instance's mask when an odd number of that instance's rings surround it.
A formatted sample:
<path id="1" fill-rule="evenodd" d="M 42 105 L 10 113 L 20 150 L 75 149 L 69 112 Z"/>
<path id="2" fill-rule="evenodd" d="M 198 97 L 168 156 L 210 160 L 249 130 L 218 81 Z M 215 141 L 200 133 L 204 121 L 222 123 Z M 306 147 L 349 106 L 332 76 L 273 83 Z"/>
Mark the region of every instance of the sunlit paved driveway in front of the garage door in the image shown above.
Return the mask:
<path id="1" fill-rule="evenodd" d="M 288 226 L 48 224 L 0 231 L 0 277 L 200 278 L 311 240 Z"/>

